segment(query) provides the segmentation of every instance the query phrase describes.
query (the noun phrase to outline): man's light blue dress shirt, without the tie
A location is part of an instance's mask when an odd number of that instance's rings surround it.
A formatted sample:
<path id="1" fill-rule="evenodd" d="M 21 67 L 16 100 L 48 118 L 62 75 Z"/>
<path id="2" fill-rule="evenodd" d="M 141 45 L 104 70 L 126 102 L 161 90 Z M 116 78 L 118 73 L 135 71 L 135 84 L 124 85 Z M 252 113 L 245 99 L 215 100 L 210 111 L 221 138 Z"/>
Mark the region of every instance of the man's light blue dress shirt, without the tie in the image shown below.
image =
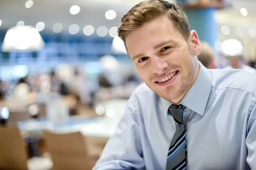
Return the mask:
<path id="1" fill-rule="evenodd" d="M 137 87 L 93 170 L 166 170 L 175 133 L 171 104 L 145 84 Z M 180 104 L 187 107 L 187 170 L 256 170 L 256 74 L 200 63 Z"/>

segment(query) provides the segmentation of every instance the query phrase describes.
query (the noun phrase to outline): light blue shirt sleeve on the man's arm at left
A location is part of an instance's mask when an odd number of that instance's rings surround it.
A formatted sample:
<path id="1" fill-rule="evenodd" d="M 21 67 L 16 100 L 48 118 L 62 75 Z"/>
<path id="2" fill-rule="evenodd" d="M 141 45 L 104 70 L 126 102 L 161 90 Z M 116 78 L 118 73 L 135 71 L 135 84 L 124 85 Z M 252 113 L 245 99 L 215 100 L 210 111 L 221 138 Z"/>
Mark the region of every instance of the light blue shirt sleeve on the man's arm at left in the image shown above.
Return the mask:
<path id="1" fill-rule="evenodd" d="M 136 97 L 131 96 L 114 135 L 107 142 L 93 170 L 138 170 L 144 167 L 140 125 L 136 120 L 137 105 Z"/>

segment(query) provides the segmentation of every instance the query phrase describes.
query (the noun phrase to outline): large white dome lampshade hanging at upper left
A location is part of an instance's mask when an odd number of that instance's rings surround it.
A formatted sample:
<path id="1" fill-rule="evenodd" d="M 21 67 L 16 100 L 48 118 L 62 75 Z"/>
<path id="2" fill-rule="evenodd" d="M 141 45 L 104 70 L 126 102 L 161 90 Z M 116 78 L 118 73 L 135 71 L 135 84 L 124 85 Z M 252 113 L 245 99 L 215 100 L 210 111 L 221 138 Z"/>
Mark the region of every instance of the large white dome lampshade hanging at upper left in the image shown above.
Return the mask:
<path id="1" fill-rule="evenodd" d="M 38 51 L 44 45 L 44 40 L 35 27 L 14 26 L 6 32 L 2 44 L 2 51 Z"/>

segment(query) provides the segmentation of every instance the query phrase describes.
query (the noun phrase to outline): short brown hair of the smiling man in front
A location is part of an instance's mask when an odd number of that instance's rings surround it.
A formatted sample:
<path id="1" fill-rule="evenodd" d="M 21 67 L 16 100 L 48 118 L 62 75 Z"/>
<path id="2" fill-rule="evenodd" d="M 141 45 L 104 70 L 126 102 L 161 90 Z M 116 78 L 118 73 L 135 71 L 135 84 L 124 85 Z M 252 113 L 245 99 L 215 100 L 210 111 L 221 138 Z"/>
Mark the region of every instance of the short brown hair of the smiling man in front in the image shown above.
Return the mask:
<path id="1" fill-rule="evenodd" d="M 173 3 L 165 0 L 145 0 L 135 5 L 122 17 L 118 28 L 118 36 L 124 41 L 125 37 L 135 29 L 156 17 L 168 16 L 177 29 L 188 40 L 190 34 L 189 22 L 185 12 Z"/>

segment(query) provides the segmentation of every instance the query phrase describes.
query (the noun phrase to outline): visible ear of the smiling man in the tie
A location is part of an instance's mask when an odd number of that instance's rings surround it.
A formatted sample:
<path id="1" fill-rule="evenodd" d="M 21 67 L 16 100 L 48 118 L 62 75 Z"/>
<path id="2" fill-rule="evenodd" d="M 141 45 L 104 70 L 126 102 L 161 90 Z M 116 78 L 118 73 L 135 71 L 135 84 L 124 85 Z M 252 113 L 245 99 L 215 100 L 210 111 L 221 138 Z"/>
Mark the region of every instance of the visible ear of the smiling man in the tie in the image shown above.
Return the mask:
<path id="1" fill-rule="evenodd" d="M 198 56 L 201 52 L 201 43 L 195 30 L 190 32 L 189 45 L 193 55 Z"/>

